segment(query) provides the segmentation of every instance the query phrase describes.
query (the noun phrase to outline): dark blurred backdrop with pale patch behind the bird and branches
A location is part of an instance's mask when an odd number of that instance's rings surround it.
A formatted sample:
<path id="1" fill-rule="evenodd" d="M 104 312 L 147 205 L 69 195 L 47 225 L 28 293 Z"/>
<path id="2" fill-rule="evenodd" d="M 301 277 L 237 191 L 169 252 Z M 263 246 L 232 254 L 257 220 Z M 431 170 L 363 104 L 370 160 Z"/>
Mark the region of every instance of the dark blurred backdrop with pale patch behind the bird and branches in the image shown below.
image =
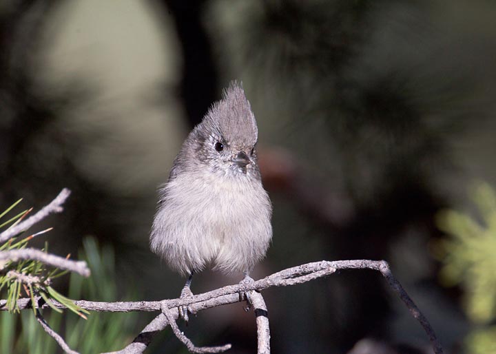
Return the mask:
<path id="1" fill-rule="evenodd" d="M 495 18 L 496 3 L 468 0 L 4 0 L 0 205 L 23 197 L 39 208 L 69 187 L 64 213 L 48 220 L 51 250 L 76 254 L 95 236 L 116 250 L 121 292 L 136 291 L 126 300 L 176 298 L 184 280 L 148 249 L 156 188 L 237 79 L 274 209 L 254 278 L 323 259 L 388 260 L 446 351 L 462 353 L 462 289 L 440 286 L 430 245 L 445 237 L 438 210 L 464 207 L 475 178 L 496 182 Z M 238 280 L 207 271 L 192 290 Z M 371 271 L 264 295 L 273 353 L 429 353 Z M 236 304 L 185 331 L 254 353 L 254 322 Z M 359 351 L 373 341 L 384 347 Z M 181 351 L 167 336 L 150 349 Z"/>

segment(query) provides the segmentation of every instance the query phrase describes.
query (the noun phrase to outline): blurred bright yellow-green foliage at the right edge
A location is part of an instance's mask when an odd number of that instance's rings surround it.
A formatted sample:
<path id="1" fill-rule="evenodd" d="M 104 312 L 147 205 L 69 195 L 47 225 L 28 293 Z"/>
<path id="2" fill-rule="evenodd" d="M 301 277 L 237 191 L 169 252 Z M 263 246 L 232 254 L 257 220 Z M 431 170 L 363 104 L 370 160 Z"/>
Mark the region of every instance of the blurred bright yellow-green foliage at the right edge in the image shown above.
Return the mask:
<path id="1" fill-rule="evenodd" d="M 486 183 L 471 189 L 477 216 L 441 211 L 437 225 L 451 235 L 437 249 L 446 286 L 464 290 L 464 309 L 477 327 L 466 338 L 468 353 L 496 353 L 496 192 Z"/>

